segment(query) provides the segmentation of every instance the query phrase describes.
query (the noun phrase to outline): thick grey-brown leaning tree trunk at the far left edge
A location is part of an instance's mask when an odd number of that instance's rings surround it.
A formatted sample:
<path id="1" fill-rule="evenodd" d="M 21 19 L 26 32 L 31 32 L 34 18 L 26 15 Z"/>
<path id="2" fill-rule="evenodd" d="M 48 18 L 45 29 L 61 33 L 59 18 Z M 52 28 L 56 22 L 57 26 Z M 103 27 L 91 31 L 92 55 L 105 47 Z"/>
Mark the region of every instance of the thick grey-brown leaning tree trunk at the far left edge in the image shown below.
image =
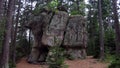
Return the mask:
<path id="1" fill-rule="evenodd" d="M 9 42 L 11 38 L 11 27 L 12 27 L 12 12 L 14 7 L 14 0 L 9 0 L 8 10 L 6 16 L 6 31 L 3 40 L 3 50 L 0 68 L 9 68 Z"/>

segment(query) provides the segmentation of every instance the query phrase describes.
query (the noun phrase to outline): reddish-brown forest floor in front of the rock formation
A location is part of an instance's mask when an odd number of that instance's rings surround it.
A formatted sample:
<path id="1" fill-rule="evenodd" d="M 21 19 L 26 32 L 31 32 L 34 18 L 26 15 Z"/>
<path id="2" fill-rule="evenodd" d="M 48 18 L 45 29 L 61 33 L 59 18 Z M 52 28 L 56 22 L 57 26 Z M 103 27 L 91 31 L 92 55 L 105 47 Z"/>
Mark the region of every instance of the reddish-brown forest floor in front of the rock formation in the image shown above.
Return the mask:
<path id="1" fill-rule="evenodd" d="M 108 68 L 109 63 L 100 62 L 98 59 L 88 56 L 84 60 L 66 60 L 69 68 Z M 25 58 L 22 58 L 16 68 L 47 68 L 47 65 L 29 64 Z"/>

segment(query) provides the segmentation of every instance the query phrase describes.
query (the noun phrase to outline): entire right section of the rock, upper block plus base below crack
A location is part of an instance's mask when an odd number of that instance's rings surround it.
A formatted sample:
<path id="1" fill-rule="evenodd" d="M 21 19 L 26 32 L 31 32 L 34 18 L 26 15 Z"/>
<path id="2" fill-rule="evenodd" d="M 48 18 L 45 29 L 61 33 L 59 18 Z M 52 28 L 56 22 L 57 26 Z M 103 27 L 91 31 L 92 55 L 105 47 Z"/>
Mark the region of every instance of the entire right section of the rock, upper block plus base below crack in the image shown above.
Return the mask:
<path id="1" fill-rule="evenodd" d="M 80 16 L 70 16 L 64 36 L 63 46 L 73 58 L 85 58 L 87 45 L 86 20 Z"/>

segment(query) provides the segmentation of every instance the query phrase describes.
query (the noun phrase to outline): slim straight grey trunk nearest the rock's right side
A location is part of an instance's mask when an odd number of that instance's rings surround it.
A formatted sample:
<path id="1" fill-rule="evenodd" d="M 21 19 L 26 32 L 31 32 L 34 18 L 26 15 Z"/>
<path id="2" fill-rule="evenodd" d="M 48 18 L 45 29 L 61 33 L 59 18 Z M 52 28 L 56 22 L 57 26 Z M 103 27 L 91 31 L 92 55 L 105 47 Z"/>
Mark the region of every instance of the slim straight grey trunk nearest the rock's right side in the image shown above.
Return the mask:
<path id="1" fill-rule="evenodd" d="M 100 59 L 104 59 L 104 29 L 103 29 L 103 21 L 102 21 L 102 9 L 101 9 L 101 0 L 98 0 L 98 21 L 99 21 L 99 42 L 100 42 Z"/>

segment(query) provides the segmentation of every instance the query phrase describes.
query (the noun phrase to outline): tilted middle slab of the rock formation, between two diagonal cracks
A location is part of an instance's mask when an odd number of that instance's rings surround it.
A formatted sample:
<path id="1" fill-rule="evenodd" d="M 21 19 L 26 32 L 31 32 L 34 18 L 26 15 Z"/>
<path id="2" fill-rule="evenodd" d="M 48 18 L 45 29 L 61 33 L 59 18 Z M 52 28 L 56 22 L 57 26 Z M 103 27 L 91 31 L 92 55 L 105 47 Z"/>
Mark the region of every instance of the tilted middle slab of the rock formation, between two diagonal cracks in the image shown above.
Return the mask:
<path id="1" fill-rule="evenodd" d="M 42 43 L 48 46 L 60 46 L 63 38 L 64 31 L 68 21 L 68 13 L 58 11 L 53 16 L 50 24 L 47 25 L 42 36 Z"/>

